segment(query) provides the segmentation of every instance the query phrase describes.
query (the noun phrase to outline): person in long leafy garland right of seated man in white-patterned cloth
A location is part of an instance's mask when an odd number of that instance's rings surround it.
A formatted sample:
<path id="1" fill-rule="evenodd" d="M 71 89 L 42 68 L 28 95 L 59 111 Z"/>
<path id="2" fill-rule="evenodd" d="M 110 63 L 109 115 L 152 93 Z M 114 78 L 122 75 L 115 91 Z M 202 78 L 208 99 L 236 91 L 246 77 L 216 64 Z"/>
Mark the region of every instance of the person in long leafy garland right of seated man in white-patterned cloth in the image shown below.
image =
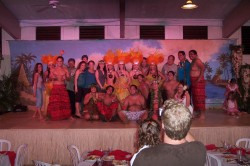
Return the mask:
<path id="1" fill-rule="evenodd" d="M 154 81 L 152 83 L 147 101 L 147 108 L 149 108 L 150 110 L 150 116 L 152 116 L 151 118 L 158 121 L 159 108 L 162 106 L 163 103 L 162 92 L 160 90 L 158 81 Z"/>

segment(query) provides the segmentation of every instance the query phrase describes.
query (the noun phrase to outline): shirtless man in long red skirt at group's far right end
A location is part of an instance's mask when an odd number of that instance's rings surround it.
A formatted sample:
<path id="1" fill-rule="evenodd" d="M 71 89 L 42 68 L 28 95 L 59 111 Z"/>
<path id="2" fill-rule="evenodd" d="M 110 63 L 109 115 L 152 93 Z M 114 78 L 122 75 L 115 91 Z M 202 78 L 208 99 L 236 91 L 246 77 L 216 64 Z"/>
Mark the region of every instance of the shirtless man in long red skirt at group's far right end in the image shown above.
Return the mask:
<path id="1" fill-rule="evenodd" d="M 200 114 L 200 119 L 205 119 L 205 66 L 195 50 L 189 51 L 189 58 L 192 60 L 190 78 L 194 111 Z"/>

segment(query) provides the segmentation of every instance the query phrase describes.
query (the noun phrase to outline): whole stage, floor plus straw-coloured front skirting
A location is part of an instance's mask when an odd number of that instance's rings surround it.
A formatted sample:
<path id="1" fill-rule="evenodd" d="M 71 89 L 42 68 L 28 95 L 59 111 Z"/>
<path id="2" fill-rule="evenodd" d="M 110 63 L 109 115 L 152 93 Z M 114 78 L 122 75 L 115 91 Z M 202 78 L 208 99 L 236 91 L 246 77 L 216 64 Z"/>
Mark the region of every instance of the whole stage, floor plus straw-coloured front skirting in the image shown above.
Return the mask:
<path id="1" fill-rule="evenodd" d="M 87 122 L 83 119 L 39 121 L 32 111 L 0 115 L 0 139 L 11 141 L 11 150 L 28 144 L 25 164 L 32 160 L 70 165 L 67 145 L 74 144 L 80 152 L 94 149 L 121 149 L 135 152 L 137 123 Z M 221 110 L 208 110 L 205 120 L 194 119 L 191 133 L 204 144 L 221 146 L 221 141 L 234 144 L 238 138 L 250 138 L 250 114 L 231 117 Z"/>

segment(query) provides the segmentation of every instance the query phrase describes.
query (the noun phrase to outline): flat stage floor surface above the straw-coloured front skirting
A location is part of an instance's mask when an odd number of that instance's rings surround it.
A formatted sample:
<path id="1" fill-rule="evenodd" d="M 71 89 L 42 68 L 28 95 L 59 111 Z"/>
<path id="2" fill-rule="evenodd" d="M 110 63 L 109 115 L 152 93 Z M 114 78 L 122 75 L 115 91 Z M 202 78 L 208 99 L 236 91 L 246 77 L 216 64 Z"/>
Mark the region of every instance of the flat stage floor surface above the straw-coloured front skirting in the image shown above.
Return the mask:
<path id="1" fill-rule="evenodd" d="M 62 121 L 40 121 L 32 118 L 33 111 L 9 112 L 0 115 L 0 129 L 105 129 L 137 128 L 136 122 L 124 124 L 121 121 L 101 122 L 84 119 Z M 221 110 L 209 110 L 206 119 L 194 119 L 192 128 L 197 127 L 239 127 L 250 126 L 250 114 L 242 113 L 239 118 L 229 116 Z"/>

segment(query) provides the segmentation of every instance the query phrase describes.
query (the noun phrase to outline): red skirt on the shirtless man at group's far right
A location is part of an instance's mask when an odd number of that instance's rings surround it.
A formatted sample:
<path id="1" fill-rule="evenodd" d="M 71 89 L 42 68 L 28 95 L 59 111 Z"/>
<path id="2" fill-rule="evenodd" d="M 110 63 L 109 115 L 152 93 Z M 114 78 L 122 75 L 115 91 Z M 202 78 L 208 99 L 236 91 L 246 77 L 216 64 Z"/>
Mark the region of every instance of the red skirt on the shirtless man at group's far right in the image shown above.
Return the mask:
<path id="1" fill-rule="evenodd" d="M 206 92 L 205 92 L 205 80 L 202 77 L 199 82 L 196 83 L 198 77 L 191 77 L 191 90 L 192 90 L 192 101 L 194 105 L 195 111 L 205 111 L 205 100 L 206 100 Z"/>

